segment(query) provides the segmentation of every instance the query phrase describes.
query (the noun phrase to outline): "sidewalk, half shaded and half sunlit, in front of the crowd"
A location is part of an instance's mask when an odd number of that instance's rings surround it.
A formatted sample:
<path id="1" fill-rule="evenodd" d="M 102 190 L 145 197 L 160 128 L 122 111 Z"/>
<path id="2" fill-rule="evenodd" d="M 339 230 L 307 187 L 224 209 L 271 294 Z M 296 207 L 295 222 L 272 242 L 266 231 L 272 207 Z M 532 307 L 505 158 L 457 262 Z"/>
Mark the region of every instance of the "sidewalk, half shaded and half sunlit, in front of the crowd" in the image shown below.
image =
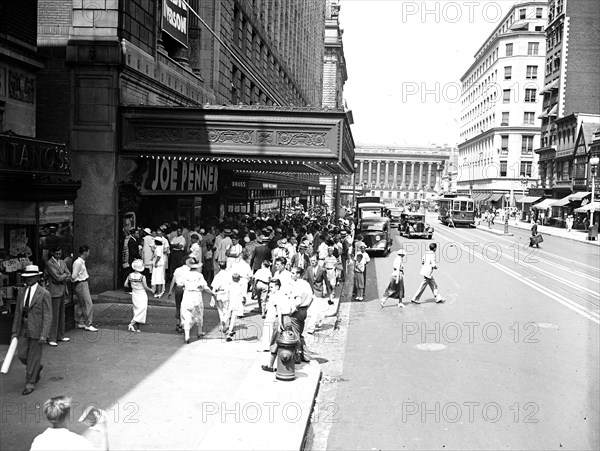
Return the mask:
<path id="1" fill-rule="evenodd" d="M 246 306 L 230 343 L 205 302 L 207 334 L 198 340 L 194 329 L 185 345 L 166 296 L 151 300 L 142 333 L 127 331 L 128 294 L 94 297 L 100 330 L 76 329 L 70 342 L 45 346 L 42 380 L 31 395 L 21 395 L 24 367 L 16 358 L 0 376 L 2 429 L 11 431 L 0 449 L 28 449 L 48 427 L 40 407 L 60 394 L 77 403 L 72 430 L 94 442 L 97 433 L 76 420 L 90 404 L 108 411 L 110 449 L 302 449 L 321 378 L 319 358 L 310 353 L 311 362 L 297 365 L 290 382 L 262 371 L 269 353 L 256 351 L 263 322 L 252 311 L 256 302 Z M 324 328 L 334 327 L 338 307 L 336 299 Z M 0 346 L 0 356 L 7 349 Z"/>

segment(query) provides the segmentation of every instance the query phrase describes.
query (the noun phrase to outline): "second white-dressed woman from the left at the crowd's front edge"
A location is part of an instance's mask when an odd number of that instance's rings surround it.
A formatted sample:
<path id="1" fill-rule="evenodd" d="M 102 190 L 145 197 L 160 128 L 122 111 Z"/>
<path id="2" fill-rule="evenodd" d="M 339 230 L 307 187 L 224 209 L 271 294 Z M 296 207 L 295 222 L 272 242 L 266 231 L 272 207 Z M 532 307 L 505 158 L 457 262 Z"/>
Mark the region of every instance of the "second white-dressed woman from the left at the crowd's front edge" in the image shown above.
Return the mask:
<path id="1" fill-rule="evenodd" d="M 204 336 L 204 301 L 202 292 L 213 294 L 204 276 L 200 272 L 202 265 L 195 258 L 186 261 L 190 272 L 183 280 L 183 298 L 181 299 L 181 326 L 183 327 L 185 343 L 190 343 L 190 330 L 194 325 L 198 326 L 197 336 Z"/>

